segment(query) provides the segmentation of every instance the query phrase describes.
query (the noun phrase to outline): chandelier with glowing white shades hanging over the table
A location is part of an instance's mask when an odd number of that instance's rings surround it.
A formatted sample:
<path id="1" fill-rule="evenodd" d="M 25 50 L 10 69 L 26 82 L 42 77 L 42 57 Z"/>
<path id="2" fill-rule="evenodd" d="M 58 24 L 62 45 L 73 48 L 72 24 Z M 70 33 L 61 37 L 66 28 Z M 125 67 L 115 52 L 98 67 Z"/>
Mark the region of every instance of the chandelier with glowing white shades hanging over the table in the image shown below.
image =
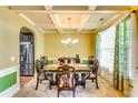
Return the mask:
<path id="1" fill-rule="evenodd" d="M 71 21 L 71 18 L 68 18 L 68 21 L 69 21 L 69 27 L 70 27 L 70 21 Z M 77 43 L 79 40 L 78 39 L 71 39 L 70 37 L 69 38 L 66 38 L 63 40 L 61 40 L 61 43 L 68 45 L 68 47 L 71 47 L 72 44 Z"/>

